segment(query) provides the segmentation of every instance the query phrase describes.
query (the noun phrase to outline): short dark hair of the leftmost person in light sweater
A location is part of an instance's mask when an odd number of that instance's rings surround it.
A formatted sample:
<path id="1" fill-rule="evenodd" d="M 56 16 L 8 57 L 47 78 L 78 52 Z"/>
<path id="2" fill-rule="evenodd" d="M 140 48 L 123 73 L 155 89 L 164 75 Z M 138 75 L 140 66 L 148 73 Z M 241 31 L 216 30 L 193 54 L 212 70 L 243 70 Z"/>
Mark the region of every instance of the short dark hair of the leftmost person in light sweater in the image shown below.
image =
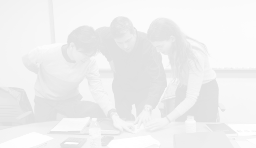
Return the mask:
<path id="1" fill-rule="evenodd" d="M 73 30 L 68 36 L 68 45 L 73 42 L 82 53 L 98 53 L 99 37 L 92 27 L 83 25 Z"/>

